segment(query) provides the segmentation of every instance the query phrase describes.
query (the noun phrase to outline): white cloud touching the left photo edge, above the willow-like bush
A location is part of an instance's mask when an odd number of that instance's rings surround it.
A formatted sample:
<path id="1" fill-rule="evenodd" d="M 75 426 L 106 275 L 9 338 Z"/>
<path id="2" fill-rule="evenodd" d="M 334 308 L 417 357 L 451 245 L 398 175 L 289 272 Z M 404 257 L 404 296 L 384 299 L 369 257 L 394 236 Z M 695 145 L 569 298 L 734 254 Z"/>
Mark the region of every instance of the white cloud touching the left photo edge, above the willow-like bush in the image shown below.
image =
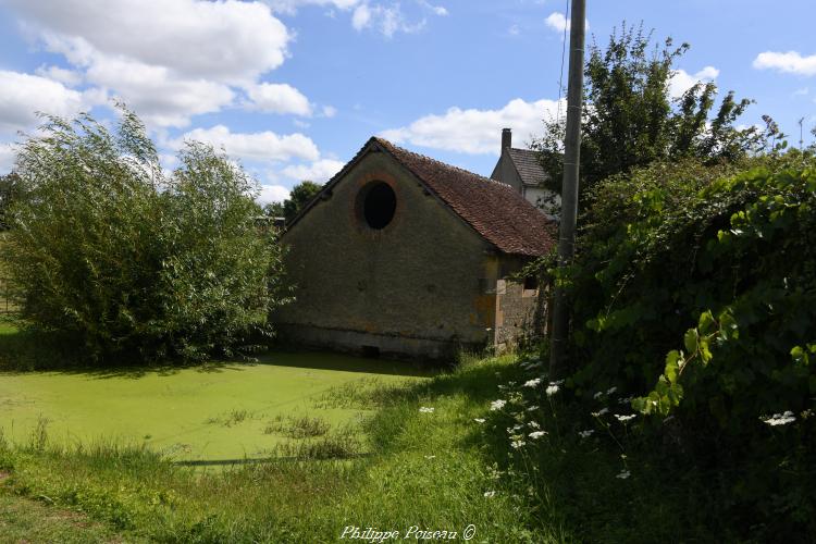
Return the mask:
<path id="1" fill-rule="evenodd" d="M 38 111 L 73 116 L 87 107 L 88 98 L 47 77 L 0 70 L 0 128 L 29 128 Z"/>

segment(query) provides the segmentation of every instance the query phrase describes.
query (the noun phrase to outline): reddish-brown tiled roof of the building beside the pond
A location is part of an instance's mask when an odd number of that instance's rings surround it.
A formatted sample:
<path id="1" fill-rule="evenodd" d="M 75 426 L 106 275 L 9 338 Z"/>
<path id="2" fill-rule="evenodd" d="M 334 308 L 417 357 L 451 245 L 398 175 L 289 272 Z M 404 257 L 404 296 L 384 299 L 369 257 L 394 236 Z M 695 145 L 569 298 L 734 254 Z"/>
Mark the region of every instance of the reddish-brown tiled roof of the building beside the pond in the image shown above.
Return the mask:
<path id="1" fill-rule="evenodd" d="M 555 226 L 512 187 L 372 137 L 321 194 L 332 187 L 367 153 L 383 151 L 417 177 L 485 240 L 508 255 L 537 257 L 555 245 Z M 318 195 L 289 227 L 320 200 Z"/>

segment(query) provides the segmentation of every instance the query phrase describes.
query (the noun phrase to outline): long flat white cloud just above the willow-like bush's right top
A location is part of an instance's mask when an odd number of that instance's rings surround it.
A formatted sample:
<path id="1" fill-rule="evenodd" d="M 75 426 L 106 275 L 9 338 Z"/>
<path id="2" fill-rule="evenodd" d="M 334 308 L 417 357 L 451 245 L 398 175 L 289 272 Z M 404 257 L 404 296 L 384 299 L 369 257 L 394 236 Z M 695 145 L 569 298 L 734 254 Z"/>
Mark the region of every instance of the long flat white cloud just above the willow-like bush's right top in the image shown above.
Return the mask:
<path id="1" fill-rule="evenodd" d="M 233 133 L 224 125 L 211 128 L 195 128 L 181 138 L 171 140 L 170 147 L 178 149 L 185 139 L 205 141 L 217 148 L 223 148 L 232 158 L 252 161 L 274 162 L 301 159 L 316 161 L 320 158 L 318 146 L 302 134 L 277 134 L 265 131 L 260 133 Z"/>

